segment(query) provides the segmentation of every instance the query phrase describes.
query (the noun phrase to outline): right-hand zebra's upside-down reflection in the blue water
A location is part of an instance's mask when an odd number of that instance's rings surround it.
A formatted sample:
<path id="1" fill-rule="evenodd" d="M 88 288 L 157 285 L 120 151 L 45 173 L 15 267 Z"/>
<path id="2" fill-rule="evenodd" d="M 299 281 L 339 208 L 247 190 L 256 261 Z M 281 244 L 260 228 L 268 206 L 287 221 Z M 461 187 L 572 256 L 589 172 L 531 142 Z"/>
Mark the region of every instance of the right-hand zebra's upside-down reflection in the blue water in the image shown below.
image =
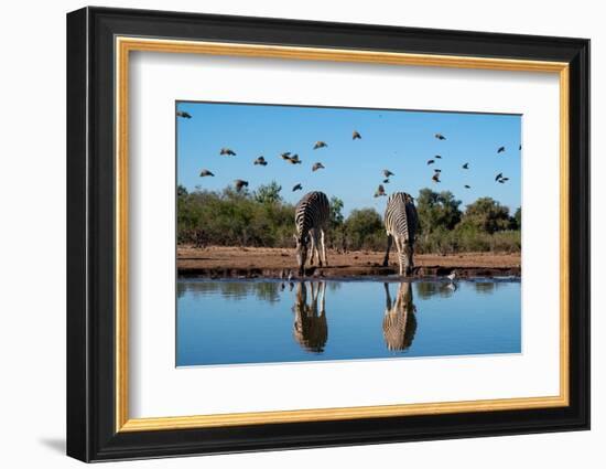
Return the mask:
<path id="1" fill-rule="evenodd" d="M 400 284 L 396 301 L 391 300 L 389 284 L 383 284 L 386 310 L 383 316 L 383 338 L 387 348 L 403 351 L 410 348 L 416 332 L 416 307 L 412 302 L 412 285 Z"/>

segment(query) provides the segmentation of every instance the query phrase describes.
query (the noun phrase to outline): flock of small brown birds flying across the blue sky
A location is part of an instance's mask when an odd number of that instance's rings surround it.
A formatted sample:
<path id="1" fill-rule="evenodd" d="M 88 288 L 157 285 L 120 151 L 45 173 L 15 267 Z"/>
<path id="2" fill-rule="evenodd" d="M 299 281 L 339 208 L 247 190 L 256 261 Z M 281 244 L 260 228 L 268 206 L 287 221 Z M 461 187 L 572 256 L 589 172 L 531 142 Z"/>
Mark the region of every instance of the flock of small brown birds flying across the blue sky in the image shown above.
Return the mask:
<path id="1" fill-rule="evenodd" d="M 183 111 L 183 110 L 177 110 L 176 111 L 176 115 L 177 117 L 183 117 L 185 119 L 191 119 L 192 118 L 192 115 L 186 113 L 186 111 Z M 434 137 L 437 139 L 437 140 L 446 140 L 446 137 L 443 136 L 442 134 L 435 134 Z M 361 139 L 361 135 L 360 132 L 358 132 L 357 130 L 354 130 L 351 132 L 351 139 L 353 140 L 359 140 Z M 318 150 L 321 148 L 326 148 L 328 147 L 328 145 L 325 142 L 325 141 L 316 141 L 315 145 L 313 146 L 313 149 L 314 150 Z M 522 146 L 520 145 L 520 150 L 522 149 Z M 499 147 L 497 149 L 497 154 L 499 153 L 504 153 L 506 151 L 505 147 Z M 220 156 L 227 156 L 227 157 L 235 157 L 236 156 L 236 152 L 234 150 L 231 150 L 230 148 L 221 148 L 220 151 L 219 151 L 219 154 Z M 290 164 L 301 164 L 303 161 L 299 159 L 299 154 L 292 154 L 290 151 L 286 151 L 284 153 L 281 153 L 280 157 L 282 158 L 282 160 L 286 161 L 288 163 Z M 431 164 L 435 164 L 435 160 L 441 160 L 442 159 L 442 156 L 441 154 L 435 154 L 432 159 L 428 160 L 428 166 L 431 166 Z M 253 162 L 252 162 L 255 166 L 259 164 L 259 166 L 262 166 L 262 167 L 266 167 L 268 164 L 268 161 L 266 160 L 264 157 L 258 157 Z M 312 172 L 315 172 L 317 170 L 321 170 L 321 169 L 325 169 L 324 164 L 322 164 L 322 162 L 317 161 L 315 162 L 313 166 L 312 166 Z M 469 163 L 466 162 L 462 166 L 462 169 L 464 170 L 468 170 L 469 169 Z M 440 183 L 442 182 L 440 180 L 440 177 L 442 174 L 442 170 L 439 169 L 439 168 L 435 168 L 433 170 L 433 175 L 432 175 L 432 181 L 434 183 Z M 388 169 L 383 169 L 382 170 L 382 174 L 385 177 L 385 179 L 382 180 L 382 183 L 379 184 L 379 186 L 377 188 L 377 191 L 375 192 L 375 198 L 379 198 L 379 196 L 383 196 L 383 195 L 387 195 L 386 193 L 386 190 L 385 190 L 385 186 L 383 184 L 388 184 L 389 183 L 389 178 L 392 177 L 392 175 L 396 175 L 393 172 L 391 172 L 390 170 Z M 205 177 L 214 177 L 215 174 L 213 172 L 210 172 L 209 170 L 207 169 L 203 169 L 199 173 L 199 175 L 202 178 L 205 178 Z M 496 177 L 495 177 L 495 181 L 497 183 L 500 183 L 500 184 L 505 184 L 507 181 L 509 181 L 509 178 L 505 177 L 502 172 L 499 172 Z M 245 181 L 242 179 L 236 179 L 234 181 L 234 186 L 236 188 L 236 190 L 238 192 L 240 192 L 244 188 L 247 188 L 248 186 L 248 181 Z M 465 189 L 472 189 L 472 186 L 469 184 L 465 184 L 464 185 Z M 295 191 L 301 191 L 303 190 L 303 185 L 301 183 L 296 183 L 293 188 L 292 188 L 292 191 L 295 192 Z"/>

